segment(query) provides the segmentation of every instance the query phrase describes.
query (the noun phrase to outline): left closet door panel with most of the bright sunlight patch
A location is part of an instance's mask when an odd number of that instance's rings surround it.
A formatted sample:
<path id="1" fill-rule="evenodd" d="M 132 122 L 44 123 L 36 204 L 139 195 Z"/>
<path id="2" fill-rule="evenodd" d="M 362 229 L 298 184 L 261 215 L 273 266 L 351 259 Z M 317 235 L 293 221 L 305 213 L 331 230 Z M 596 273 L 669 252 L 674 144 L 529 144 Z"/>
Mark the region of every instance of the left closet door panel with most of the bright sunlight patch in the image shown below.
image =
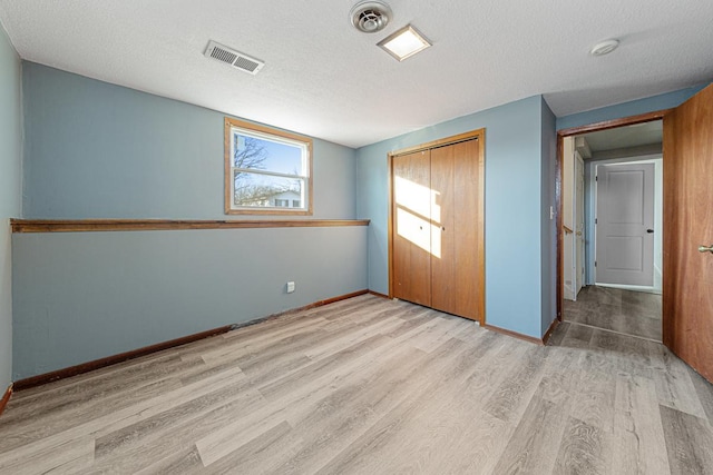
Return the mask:
<path id="1" fill-rule="evenodd" d="M 393 297 L 431 306 L 430 152 L 393 157 Z"/>

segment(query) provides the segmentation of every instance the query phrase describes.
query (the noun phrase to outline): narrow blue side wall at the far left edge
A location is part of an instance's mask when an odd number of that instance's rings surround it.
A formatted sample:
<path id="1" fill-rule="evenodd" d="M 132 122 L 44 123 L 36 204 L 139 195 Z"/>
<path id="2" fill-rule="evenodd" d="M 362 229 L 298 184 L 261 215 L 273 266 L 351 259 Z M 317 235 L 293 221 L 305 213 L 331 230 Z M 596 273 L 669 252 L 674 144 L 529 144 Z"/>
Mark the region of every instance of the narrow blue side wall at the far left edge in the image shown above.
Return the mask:
<path id="1" fill-rule="evenodd" d="M 20 217 L 22 170 L 21 65 L 0 24 L 0 395 L 12 373 L 12 264 L 9 218 Z"/>

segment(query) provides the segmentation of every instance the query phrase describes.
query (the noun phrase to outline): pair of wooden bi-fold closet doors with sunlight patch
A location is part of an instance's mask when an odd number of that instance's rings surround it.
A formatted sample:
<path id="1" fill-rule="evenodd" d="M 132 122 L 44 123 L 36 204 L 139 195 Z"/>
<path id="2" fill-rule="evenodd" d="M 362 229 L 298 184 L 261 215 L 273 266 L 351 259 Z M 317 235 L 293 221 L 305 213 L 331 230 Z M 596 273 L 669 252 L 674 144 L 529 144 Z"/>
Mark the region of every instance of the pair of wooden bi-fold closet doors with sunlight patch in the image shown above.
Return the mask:
<path id="1" fill-rule="evenodd" d="M 484 323 L 481 133 L 391 164 L 392 296 Z"/>

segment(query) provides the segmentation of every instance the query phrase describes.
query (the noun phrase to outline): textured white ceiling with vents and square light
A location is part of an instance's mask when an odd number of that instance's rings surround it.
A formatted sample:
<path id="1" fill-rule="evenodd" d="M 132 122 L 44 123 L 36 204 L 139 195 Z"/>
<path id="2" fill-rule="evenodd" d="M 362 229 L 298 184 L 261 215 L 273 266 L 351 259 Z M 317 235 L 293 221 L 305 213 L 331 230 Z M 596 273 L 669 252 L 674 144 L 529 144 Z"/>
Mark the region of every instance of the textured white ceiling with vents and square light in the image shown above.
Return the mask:
<path id="1" fill-rule="evenodd" d="M 565 116 L 713 80 L 713 1 L 390 0 L 374 34 L 354 3 L 0 0 L 0 21 L 23 59 L 350 147 L 538 93 Z M 399 63 L 375 43 L 409 22 L 433 47 Z M 208 60 L 211 39 L 266 66 Z"/>

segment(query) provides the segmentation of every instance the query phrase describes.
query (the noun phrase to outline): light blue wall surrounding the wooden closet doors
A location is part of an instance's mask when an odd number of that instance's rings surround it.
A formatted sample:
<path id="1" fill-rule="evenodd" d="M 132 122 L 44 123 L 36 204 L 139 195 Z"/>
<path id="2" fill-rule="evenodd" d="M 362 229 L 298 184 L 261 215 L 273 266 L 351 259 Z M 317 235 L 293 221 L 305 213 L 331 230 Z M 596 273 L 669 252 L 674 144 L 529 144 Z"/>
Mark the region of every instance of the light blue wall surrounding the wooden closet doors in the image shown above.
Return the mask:
<path id="1" fill-rule="evenodd" d="M 389 291 L 387 154 L 485 128 L 486 319 L 489 325 L 524 335 L 543 335 L 544 320 L 551 318 L 543 316 L 543 295 L 553 291 L 550 283 L 543 280 L 543 246 L 549 246 L 543 243 L 549 232 L 543 229 L 549 229 L 549 205 L 544 206 L 549 190 L 543 184 L 551 179 L 543 174 L 554 171 L 545 167 L 543 152 L 544 138 L 553 140 L 555 133 L 551 112 L 545 107 L 536 96 L 356 150 L 356 214 L 372 220 L 370 289 Z"/>

